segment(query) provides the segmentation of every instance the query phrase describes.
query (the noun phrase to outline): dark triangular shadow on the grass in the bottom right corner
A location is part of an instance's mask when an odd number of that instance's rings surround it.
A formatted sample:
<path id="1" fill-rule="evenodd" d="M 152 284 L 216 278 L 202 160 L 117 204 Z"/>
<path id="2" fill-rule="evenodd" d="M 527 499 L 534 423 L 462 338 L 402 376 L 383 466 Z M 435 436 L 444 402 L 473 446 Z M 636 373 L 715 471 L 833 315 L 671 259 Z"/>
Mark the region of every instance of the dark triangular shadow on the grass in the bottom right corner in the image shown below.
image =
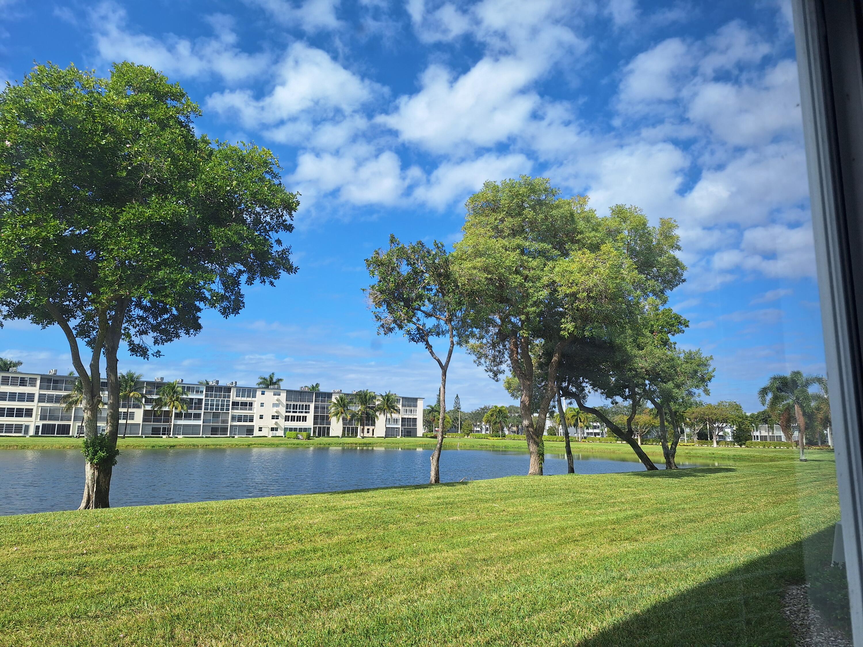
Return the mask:
<path id="1" fill-rule="evenodd" d="M 671 537 L 669 540 L 673 542 Z M 782 596 L 786 587 L 804 581 L 804 555 L 809 573 L 813 568 L 826 567 L 832 542 L 830 525 L 803 542 L 747 562 L 603 629 L 577 645 L 793 645 L 791 629 L 782 611 Z"/>

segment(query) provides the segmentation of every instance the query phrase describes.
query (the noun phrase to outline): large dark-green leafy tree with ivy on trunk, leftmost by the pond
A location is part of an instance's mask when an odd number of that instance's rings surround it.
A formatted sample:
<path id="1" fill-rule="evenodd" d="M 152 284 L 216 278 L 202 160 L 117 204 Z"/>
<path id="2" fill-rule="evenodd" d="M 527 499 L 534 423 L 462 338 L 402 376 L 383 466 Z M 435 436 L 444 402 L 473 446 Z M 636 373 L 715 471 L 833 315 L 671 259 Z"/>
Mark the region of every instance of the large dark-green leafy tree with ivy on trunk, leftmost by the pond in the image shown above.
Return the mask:
<path id="1" fill-rule="evenodd" d="M 274 155 L 198 135 L 199 115 L 180 85 L 128 62 L 106 79 L 36 66 L 0 93 L 0 320 L 66 336 L 83 390 L 81 508 L 109 506 L 121 342 L 146 358 L 196 334 L 205 308 L 242 310 L 244 285 L 296 271 L 280 235 L 299 201 Z"/>

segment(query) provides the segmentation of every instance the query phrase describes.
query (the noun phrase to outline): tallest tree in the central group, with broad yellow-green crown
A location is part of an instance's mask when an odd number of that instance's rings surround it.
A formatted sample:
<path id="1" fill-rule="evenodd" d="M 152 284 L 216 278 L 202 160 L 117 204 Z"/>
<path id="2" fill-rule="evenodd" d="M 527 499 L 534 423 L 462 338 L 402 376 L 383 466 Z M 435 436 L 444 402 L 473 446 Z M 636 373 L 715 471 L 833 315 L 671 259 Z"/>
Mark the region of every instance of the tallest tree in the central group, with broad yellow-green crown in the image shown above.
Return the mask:
<path id="1" fill-rule="evenodd" d="M 508 370 L 519 380 L 528 474 L 542 474 L 541 424 L 562 355 L 595 327 L 626 321 L 641 299 L 679 285 L 675 225 L 654 228 L 634 207 L 597 217 L 587 198 L 560 198 L 548 179 L 527 176 L 487 182 L 467 210 L 455 256 L 469 299 L 468 349 L 494 378 Z M 539 404 L 537 380 L 545 382 Z"/>

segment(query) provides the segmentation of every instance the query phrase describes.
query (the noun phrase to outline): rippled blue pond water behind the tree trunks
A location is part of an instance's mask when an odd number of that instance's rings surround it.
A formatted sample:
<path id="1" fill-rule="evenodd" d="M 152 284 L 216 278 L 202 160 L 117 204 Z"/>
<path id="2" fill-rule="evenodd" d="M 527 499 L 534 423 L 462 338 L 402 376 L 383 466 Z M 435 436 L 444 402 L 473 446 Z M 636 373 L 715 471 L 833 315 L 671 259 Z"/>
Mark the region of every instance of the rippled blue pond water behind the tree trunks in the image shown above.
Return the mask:
<path id="1" fill-rule="evenodd" d="M 127 449 L 114 468 L 111 506 L 246 499 L 428 482 L 431 449 L 267 447 Z M 526 474 L 526 452 L 444 449 L 441 481 Z M 682 466 L 683 467 L 683 466 Z M 688 465 L 686 467 L 693 467 Z M 576 473 L 633 472 L 644 466 L 576 454 Z M 0 451 L 0 515 L 73 510 L 81 501 L 78 449 Z M 545 456 L 545 474 L 566 474 L 566 460 Z"/>

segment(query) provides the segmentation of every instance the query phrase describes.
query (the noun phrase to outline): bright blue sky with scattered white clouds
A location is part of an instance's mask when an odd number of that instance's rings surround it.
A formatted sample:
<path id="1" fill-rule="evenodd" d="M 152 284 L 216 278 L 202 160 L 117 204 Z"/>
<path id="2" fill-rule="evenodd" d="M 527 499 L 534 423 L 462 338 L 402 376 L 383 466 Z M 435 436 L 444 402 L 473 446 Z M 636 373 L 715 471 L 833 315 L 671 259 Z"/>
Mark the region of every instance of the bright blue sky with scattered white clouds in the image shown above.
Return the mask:
<path id="1" fill-rule="evenodd" d="M 824 372 L 787 3 L 0 0 L 0 79 L 47 60 L 154 66 L 200 132 L 272 148 L 302 193 L 298 274 L 123 369 L 433 399 L 425 351 L 376 336 L 362 261 L 390 233 L 457 241 L 483 180 L 530 173 L 677 219 L 690 269 L 671 304 L 680 342 L 715 356 L 711 399 L 754 411 L 770 374 Z M 0 355 L 71 367 L 59 330 L 22 322 Z M 448 393 L 512 402 L 461 353 Z"/>

